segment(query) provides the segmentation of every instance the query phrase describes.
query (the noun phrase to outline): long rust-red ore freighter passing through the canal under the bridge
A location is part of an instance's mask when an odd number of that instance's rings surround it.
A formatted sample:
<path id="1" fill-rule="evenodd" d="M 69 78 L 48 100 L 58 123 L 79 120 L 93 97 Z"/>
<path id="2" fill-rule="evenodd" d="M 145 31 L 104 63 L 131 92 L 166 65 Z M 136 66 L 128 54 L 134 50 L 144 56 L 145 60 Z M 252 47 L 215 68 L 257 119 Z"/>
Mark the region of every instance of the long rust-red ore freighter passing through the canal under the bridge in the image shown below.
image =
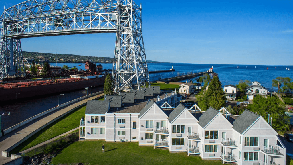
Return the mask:
<path id="1" fill-rule="evenodd" d="M 70 78 L 22 81 L 0 84 L 0 102 L 7 100 L 16 100 L 26 97 L 48 95 L 58 92 L 84 89 L 85 87 L 100 86 L 105 83 L 104 75 L 97 75 L 102 65 L 98 67 L 90 63 L 85 63 L 87 73 L 91 75 L 70 75 Z"/>

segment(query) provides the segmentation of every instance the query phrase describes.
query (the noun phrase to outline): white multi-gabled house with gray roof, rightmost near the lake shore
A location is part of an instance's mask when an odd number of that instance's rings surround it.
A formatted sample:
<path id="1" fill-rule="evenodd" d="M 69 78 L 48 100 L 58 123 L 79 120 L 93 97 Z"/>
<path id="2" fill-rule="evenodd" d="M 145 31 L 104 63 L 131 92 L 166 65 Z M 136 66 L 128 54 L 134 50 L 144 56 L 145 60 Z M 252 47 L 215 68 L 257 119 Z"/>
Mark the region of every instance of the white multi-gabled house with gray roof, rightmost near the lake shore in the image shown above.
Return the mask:
<path id="1" fill-rule="evenodd" d="M 268 97 L 268 90 L 265 89 L 265 87 L 263 87 L 260 83 L 254 81 L 251 83 L 251 86 L 246 88 L 245 94 L 247 95 L 247 100 L 252 100 L 257 95 Z"/>

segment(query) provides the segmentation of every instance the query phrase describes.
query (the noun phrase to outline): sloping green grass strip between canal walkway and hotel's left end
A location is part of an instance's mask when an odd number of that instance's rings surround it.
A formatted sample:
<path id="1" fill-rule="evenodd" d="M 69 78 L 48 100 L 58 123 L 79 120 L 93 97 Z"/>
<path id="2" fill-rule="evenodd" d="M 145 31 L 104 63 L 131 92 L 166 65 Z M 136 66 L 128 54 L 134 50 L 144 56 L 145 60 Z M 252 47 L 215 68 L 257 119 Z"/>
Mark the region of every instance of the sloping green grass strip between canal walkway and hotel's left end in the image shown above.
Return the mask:
<path id="1" fill-rule="evenodd" d="M 33 147 L 49 139 L 52 139 L 53 137 L 57 137 L 67 131 L 70 131 L 71 129 L 79 127 L 80 119 L 84 116 L 85 110 L 86 106 L 83 106 L 78 108 L 74 112 L 71 112 L 63 116 L 62 118 L 56 120 L 55 122 L 51 123 L 44 129 L 40 130 L 24 142 L 22 142 L 9 153 L 16 154 L 20 151 Z"/>

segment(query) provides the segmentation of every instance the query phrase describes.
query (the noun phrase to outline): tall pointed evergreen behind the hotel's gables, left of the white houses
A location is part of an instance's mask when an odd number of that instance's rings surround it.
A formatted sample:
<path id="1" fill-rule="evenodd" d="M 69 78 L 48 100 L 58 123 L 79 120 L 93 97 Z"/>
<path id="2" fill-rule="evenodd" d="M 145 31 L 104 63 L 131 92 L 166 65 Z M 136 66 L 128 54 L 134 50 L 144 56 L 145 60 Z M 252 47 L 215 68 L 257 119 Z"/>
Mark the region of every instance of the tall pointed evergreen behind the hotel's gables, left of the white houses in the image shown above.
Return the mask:
<path id="1" fill-rule="evenodd" d="M 209 88 L 205 92 L 202 90 L 196 98 L 199 107 L 203 111 L 207 110 L 209 107 L 213 107 L 217 110 L 222 108 L 225 105 L 226 95 L 218 76 L 214 76 L 209 83 Z"/>

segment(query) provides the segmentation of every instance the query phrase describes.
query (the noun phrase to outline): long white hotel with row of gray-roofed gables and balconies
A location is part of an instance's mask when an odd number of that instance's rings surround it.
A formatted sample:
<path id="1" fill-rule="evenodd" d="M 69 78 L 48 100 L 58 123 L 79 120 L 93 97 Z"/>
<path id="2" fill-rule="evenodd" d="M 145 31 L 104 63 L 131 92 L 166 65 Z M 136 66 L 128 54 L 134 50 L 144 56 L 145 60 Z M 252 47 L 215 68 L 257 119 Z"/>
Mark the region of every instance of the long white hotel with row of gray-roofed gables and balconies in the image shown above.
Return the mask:
<path id="1" fill-rule="evenodd" d="M 212 107 L 204 112 L 197 105 L 187 109 L 180 100 L 176 91 L 151 87 L 88 101 L 80 139 L 139 142 L 223 163 L 285 165 L 286 148 L 260 115 L 248 110 L 229 115 Z"/>

